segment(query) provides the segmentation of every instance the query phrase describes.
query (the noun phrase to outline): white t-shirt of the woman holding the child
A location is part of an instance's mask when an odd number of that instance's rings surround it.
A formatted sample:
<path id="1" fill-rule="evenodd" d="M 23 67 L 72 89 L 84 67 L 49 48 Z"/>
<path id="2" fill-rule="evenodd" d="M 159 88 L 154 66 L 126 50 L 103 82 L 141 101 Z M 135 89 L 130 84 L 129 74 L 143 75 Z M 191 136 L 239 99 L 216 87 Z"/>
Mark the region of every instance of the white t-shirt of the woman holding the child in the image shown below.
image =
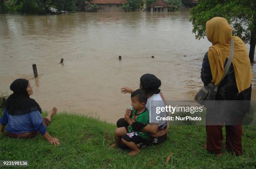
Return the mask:
<path id="1" fill-rule="evenodd" d="M 146 108 L 149 113 L 149 123 L 157 123 L 158 126 L 166 124 L 166 120 L 157 120 L 159 117 L 167 117 L 166 112 L 156 113 L 156 107 L 165 107 L 164 101 L 160 94 L 154 94 L 148 98 Z M 159 117 L 158 117 L 159 116 Z"/>

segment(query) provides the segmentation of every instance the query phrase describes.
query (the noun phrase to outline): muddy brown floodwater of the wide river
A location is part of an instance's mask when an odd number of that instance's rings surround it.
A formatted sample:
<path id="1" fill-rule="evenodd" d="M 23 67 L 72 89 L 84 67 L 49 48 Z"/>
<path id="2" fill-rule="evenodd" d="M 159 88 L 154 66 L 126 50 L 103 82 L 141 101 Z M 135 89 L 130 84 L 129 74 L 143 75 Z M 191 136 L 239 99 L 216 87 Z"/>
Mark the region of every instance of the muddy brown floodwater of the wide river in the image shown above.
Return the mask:
<path id="1" fill-rule="evenodd" d="M 188 10 L 0 15 L 0 91 L 11 94 L 11 82 L 26 78 L 42 109 L 56 106 L 108 122 L 130 107 L 130 94 L 120 88 L 138 88 L 145 73 L 159 77 L 167 100 L 191 100 L 202 86 L 202 58 L 211 43 L 195 40 L 188 18 Z M 252 68 L 255 100 L 256 64 Z"/>

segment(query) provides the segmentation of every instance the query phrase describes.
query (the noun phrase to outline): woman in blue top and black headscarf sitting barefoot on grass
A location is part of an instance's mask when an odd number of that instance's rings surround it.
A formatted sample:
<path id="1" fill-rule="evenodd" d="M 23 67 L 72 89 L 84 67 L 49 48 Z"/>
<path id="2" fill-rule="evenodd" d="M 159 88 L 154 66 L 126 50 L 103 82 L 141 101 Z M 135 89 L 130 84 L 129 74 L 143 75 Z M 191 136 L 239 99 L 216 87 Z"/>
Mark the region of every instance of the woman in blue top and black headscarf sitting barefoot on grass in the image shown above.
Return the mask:
<path id="1" fill-rule="evenodd" d="M 13 94 L 5 102 L 4 114 L 0 119 L 0 134 L 8 124 L 6 128 L 8 137 L 31 138 L 40 132 L 51 144 L 59 145 L 59 140 L 51 137 L 46 131 L 57 108 L 54 107 L 45 118 L 42 118 L 41 107 L 29 97 L 33 94 L 33 87 L 26 79 L 14 80 L 10 89 Z"/>

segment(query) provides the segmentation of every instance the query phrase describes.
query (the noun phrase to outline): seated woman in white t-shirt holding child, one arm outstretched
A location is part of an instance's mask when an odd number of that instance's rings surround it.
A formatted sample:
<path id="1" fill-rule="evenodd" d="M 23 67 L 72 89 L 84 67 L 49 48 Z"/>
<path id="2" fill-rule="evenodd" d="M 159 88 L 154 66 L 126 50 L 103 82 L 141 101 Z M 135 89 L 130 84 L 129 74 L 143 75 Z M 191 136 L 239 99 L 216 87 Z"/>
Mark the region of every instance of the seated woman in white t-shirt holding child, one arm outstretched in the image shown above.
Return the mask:
<path id="1" fill-rule="evenodd" d="M 151 138 L 140 146 L 160 144 L 167 139 L 167 121 L 156 119 L 157 116 L 167 117 L 166 112 L 161 112 L 160 114 L 156 113 L 156 107 L 165 107 L 166 105 L 165 99 L 159 89 L 161 80 L 155 75 L 145 74 L 141 76 L 140 82 L 140 89 L 145 90 L 148 96 L 146 108 L 149 113 L 149 124 L 146 125 L 142 131 L 152 133 Z M 122 93 L 132 93 L 133 91 L 134 89 L 128 87 L 121 88 Z M 128 125 L 127 120 L 124 118 L 119 119 L 117 122 L 117 127 L 126 127 Z M 120 147 L 123 149 L 127 148 L 122 143 L 120 143 Z"/>

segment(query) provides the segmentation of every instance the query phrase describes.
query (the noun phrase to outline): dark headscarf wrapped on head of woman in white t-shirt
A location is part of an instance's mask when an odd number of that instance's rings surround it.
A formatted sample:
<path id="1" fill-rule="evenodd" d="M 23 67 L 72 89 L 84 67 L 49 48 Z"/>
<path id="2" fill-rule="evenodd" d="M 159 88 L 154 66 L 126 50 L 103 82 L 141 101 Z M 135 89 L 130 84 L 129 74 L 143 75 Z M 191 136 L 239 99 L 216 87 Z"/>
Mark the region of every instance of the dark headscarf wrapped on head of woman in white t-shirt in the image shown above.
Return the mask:
<path id="1" fill-rule="evenodd" d="M 161 80 L 159 80 L 155 75 L 145 74 L 141 76 L 141 87 L 147 93 L 159 94 L 161 86 Z"/>

